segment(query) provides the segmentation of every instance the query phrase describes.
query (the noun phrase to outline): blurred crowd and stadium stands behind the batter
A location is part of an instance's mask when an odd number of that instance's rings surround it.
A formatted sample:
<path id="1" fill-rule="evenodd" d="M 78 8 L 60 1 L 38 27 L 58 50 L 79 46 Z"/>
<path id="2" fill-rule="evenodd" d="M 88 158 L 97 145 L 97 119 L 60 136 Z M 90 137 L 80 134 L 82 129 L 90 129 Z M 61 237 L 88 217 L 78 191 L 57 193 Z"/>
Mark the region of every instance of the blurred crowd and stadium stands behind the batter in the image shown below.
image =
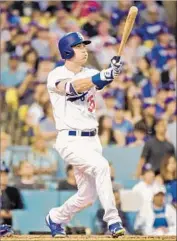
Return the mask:
<path id="1" fill-rule="evenodd" d="M 81 32 L 92 40 L 88 65 L 106 68 L 132 5 L 139 15 L 123 72 L 97 96 L 99 136 L 127 232 L 145 234 L 138 213 L 164 188 L 167 216 L 176 219 L 176 1 L 1 1 L 0 221 L 17 232 L 47 232 L 49 209 L 77 191 L 72 166 L 52 148 L 57 132 L 46 79 L 64 64 L 58 40 Z M 68 233 L 106 233 L 102 217 L 97 201 L 76 215 Z"/>

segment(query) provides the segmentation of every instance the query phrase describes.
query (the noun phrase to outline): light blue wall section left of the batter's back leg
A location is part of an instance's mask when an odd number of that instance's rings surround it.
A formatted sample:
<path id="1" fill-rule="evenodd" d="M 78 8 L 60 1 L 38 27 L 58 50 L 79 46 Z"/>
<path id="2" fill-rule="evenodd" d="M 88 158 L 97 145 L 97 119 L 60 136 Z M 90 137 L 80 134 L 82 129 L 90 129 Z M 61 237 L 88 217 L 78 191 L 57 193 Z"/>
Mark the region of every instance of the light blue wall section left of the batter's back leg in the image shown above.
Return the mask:
<path id="1" fill-rule="evenodd" d="M 22 197 L 25 210 L 13 211 L 13 228 L 21 233 L 49 231 L 45 216 L 52 207 L 58 206 L 58 191 L 24 190 Z"/>

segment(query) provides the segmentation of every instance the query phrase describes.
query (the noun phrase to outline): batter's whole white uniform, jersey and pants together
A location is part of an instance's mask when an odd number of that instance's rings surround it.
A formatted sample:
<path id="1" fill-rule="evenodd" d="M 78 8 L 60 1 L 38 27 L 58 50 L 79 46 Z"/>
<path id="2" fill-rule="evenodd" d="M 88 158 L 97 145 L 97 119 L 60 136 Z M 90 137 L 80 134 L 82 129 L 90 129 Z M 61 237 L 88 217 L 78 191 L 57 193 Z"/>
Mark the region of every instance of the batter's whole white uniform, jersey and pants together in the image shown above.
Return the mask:
<path id="1" fill-rule="evenodd" d="M 84 79 L 97 73 L 97 70 L 82 68 L 80 73 L 74 74 L 62 66 L 51 71 L 48 76 L 47 87 L 56 128 L 59 130 L 55 148 L 67 165 L 73 165 L 78 187 L 78 192 L 63 205 L 50 210 L 51 220 L 56 223 L 69 223 L 77 212 L 94 203 L 97 195 L 105 210 L 104 221 L 108 225 L 121 221 L 115 207 L 110 168 L 108 161 L 102 156 L 102 146 L 98 135 L 92 137 L 68 135 L 68 130 L 82 131 L 97 128 L 96 88 L 93 87 L 75 97 L 61 95 L 56 89 L 57 82 Z"/>

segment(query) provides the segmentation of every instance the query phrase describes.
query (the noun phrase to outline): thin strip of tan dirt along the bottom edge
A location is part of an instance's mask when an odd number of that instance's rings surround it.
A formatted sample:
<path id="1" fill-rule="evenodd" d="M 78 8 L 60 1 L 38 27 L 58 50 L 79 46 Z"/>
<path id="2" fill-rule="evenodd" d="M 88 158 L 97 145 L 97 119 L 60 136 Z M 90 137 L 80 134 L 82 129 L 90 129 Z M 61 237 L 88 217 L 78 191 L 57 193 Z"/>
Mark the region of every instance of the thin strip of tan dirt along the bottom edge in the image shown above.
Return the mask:
<path id="1" fill-rule="evenodd" d="M 3 241 L 52 241 L 52 240 L 63 240 L 63 241 L 112 241 L 112 240 L 124 240 L 124 241 L 159 241 L 159 240 L 166 240 L 166 241 L 174 241 L 176 240 L 176 236 L 123 236 L 117 239 L 113 239 L 111 236 L 101 236 L 101 235 L 69 235 L 66 238 L 56 238 L 52 239 L 49 235 L 13 235 L 12 237 L 4 237 L 1 238 Z"/>

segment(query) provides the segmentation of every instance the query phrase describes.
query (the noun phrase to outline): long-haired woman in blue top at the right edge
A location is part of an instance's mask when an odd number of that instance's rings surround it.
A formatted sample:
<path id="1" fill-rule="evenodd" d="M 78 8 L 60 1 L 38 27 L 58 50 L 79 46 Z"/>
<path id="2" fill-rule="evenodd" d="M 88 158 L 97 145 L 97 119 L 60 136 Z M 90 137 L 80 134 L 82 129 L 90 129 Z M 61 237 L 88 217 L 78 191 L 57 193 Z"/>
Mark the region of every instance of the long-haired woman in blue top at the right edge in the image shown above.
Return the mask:
<path id="1" fill-rule="evenodd" d="M 160 175 L 164 180 L 169 202 L 177 207 L 177 165 L 175 156 L 164 157 L 160 167 Z"/>

